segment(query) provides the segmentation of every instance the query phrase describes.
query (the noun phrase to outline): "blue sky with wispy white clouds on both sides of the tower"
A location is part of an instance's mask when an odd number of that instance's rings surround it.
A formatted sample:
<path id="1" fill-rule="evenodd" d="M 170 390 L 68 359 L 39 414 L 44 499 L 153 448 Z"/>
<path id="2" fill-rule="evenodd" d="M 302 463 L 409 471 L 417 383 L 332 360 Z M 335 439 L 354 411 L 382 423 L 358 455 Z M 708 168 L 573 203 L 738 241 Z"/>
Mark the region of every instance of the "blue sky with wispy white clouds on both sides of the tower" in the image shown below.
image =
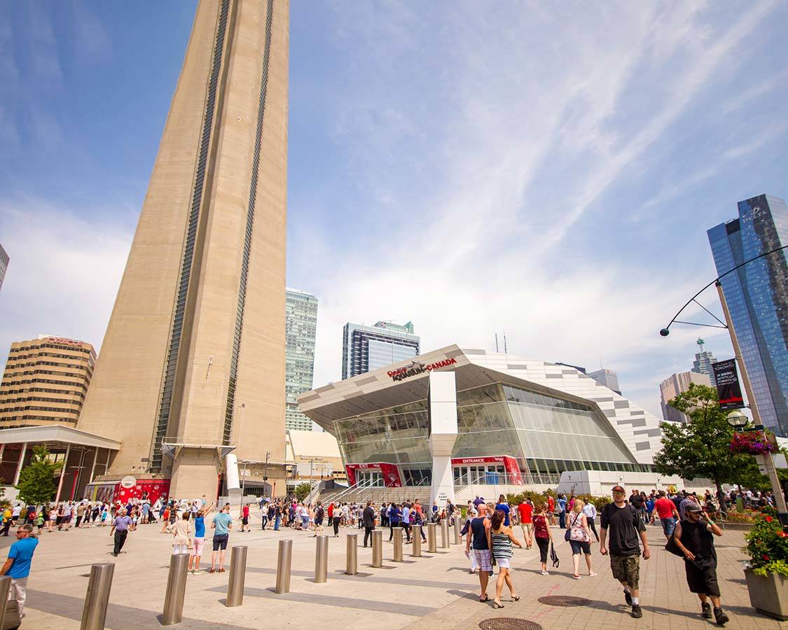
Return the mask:
<path id="1" fill-rule="evenodd" d="M 195 2 L 0 4 L 0 354 L 100 347 Z M 706 230 L 788 196 L 788 5 L 292 2 L 288 286 L 318 296 L 314 383 L 345 322 L 659 384 L 658 331 L 716 276 Z M 721 314 L 714 291 L 700 298 Z M 685 313 L 712 321 L 700 309 Z"/>

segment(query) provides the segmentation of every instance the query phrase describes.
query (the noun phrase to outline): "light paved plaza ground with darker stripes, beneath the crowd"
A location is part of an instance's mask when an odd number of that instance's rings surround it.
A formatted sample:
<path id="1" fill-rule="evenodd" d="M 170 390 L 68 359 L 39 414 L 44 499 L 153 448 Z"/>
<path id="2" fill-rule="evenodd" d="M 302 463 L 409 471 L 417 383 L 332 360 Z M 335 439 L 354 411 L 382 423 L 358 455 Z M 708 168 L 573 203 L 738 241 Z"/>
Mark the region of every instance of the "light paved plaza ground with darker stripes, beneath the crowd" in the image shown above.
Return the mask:
<path id="1" fill-rule="evenodd" d="M 78 628 L 87 589 L 90 566 L 96 562 L 117 562 L 107 614 L 107 628 L 157 628 L 162 614 L 165 584 L 171 553 L 171 535 L 162 535 L 161 526 L 142 525 L 131 532 L 125 553 L 111 555 L 110 528 L 89 528 L 70 532 L 44 532 L 35 552 L 28 583 L 28 602 L 23 628 Z M 541 624 L 543 628 L 596 630 L 597 628 L 704 628 L 710 625 L 698 614 L 697 598 L 686 588 L 682 561 L 663 549 L 660 528 L 649 528 L 652 558 L 641 562 L 641 606 L 643 618 L 634 620 L 623 602 L 622 590 L 612 579 L 608 562 L 593 545 L 596 577 L 571 579 L 571 552 L 563 541 L 563 530 L 553 529 L 556 553 L 561 564 L 550 576 L 538 573 L 539 558 L 533 550 L 515 550 L 512 561 L 519 602 L 508 601 L 504 587 L 503 610 L 492 603 L 478 602 L 478 577 L 468 573 L 464 546 L 438 548 L 411 558 L 405 545 L 401 563 L 392 561 L 392 545 L 384 542 L 384 566 L 374 569 L 371 550 L 359 547 L 359 575 L 347 576 L 345 535 L 362 532 L 340 529 L 339 538 L 329 539 L 329 580 L 314 582 L 315 539 L 291 529 L 261 532 L 259 525 L 250 533 L 234 531 L 230 546 L 249 547 L 243 606 L 225 607 L 229 570 L 213 575 L 206 572 L 210 562 L 210 539 L 206 539 L 203 573 L 188 577 L 184 621 L 180 628 L 375 628 L 375 630 L 448 630 L 478 628 L 492 617 L 517 617 Z M 519 528 L 515 534 L 519 535 Z M 209 531 L 210 535 L 210 531 Z M 277 543 L 293 539 L 291 591 L 276 595 Z M 385 530 L 384 540 L 388 539 Z M 438 535 L 440 544 L 440 532 Z M 7 541 L 8 539 L 3 539 Z M 726 532 L 717 540 L 719 581 L 723 605 L 730 614 L 727 628 L 771 630 L 788 624 L 764 617 L 749 606 L 742 573 L 744 556 L 742 532 Z M 228 549 L 229 559 L 229 549 Z M 225 565 L 226 566 L 226 565 Z M 494 595 L 494 586 L 489 588 Z M 587 606 L 546 606 L 537 601 L 546 595 L 572 595 L 590 600 Z"/>

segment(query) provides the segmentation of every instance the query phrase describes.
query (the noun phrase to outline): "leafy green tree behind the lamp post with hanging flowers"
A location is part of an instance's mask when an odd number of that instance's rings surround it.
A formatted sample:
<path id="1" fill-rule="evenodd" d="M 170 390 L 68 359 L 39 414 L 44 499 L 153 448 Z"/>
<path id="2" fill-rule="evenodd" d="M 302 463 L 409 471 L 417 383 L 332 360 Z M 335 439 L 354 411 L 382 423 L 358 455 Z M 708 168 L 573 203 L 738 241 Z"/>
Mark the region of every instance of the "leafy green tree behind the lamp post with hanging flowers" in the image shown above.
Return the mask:
<path id="1" fill-rule="evenodd" d="M 708 477 L 717 490 L 722 484 L 760 479 L 752 455 L 730 453 L 734 429 L 727 422 L 727 413 L 719 408 L 716 389 L 690 383 L 687 391 L 668 404 L 686 413 L 690 421 L 662 425 L 662 450 L 654 457 L 656 472 L 690 480 Z"/>

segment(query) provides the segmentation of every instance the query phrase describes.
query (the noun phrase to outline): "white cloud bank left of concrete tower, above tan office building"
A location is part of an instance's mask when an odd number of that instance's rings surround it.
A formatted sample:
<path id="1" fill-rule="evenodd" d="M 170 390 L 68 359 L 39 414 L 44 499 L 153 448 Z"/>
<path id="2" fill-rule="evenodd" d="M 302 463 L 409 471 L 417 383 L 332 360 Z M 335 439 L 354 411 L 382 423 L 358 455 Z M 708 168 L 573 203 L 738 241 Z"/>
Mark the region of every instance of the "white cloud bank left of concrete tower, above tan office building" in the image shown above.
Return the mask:
<path id="1" fill-rule="evenodd" d="M 31 196 L 0 198 L 0 239 L 10 257 L 0 290 L 0 354 L 40 333 L 100 347 L 133 232 L 87 221 Z"/>

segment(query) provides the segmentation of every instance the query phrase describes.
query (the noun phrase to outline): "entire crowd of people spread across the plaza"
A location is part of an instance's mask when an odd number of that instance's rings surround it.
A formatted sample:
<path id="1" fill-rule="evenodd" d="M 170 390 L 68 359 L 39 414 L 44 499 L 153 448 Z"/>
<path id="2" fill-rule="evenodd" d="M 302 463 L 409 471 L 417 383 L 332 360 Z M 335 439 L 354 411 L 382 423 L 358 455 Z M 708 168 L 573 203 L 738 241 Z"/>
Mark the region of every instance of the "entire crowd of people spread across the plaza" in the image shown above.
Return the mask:
<path id="1" fill-rule="evenodd" d="M 547 495 L 523 498 L 517 505 L 510 505 L 504 495 L 497 503 L 485 502 L 476 497 L 459 509 L 451 501 L 445 506 L 422 506 L 418 499 L 404 502 L 384 502 L 377 506 L 373 502 L 362 505 L 356 502 L 329 502 L 324 505 L 301 502 L 296 498 L 261 498 L 257 504 L 244 503 L 240 506 L 238 531 L 251 532 L 250 514 L 256 509 L 262 530 L 292 528 L 313 536 L 322 535 L 324 527 L 334 536 L 340 527 L 364 530 L 363 546 L 371 547 L 371 532 L 375 528 L 388 528 L 391 542 L 396 528 L 403 529 L 404 542 L 411 543 L 414 525 L 438 522 L 442 519 L 463 523 L 461 534 L 465 537 L 466 557 L 470 560 L 470 573 L 477 573 L 480 584 L 481 602 L 489 602 L 487 593 L 489 579 L 494 575 L 493 567 L 499 567 L 492 605 L 503 608 L 501 595 L 507 587 L 512 601 L 519 595 L 511 576 L 511 563 L 515 558 L 514 547 L 530 550 L 536 544 L 542 575 L 550 575 L 548 559 L 552 567 L 559 566 L 552 528 L 563 530 L 562 535 L 569 543 L 572 554 L 571 578 L 582 579 L 581 569 L 585 565 L 585 576 L 594 577 L 591 546 L 600 545 L 600 554 L 610 558 L 611 573 L 623 586 L 624 601 L 631 607 L 632 617 L 641 617 L 640 607 L 640 559 L 648 560 L 651 554 L 647 535 L 648 525 L 659 525 L 672 546 L 673 553 L 686 559 L 686 579 L 689 590 L 698 595 L 701 615 L 716 619 L 720 625 L 727 623 L 727 614 L 722 609 L 719 584 L 716 579 L 716 552 L 713 539 L 722 535 L 715 519 L 735 506 L 759 508 L 773 506 L 771 493 L 753 491 L 711 491 L 698 495 L 693 492 L 667 492 L 652 490 L 632 491 L 627 497 L 623 487 L 611 490 L 612 502 L 600 504 L 566 495 Z M 230 504 L 226 503 L 214 514 L 214 504 L 206 497 L 200 499 L 159 498 L 151 502 L 146 495 L 125 502 L 66 501 L 54 506 L 23 506 L 20 503 L 8 506 L 2 514 L 2 535 L 9 535 L 10 528 L 17 526 L 17 542 L 9 550 L 6 564 L 0 574 L 12 576 L 12 597 L 18 602 L 20 614 L 24 614 L 25 590 L 32 561 L 36 535 L 43 532 L 68 532 L 71 528 L 110 527 L 114 539 L 113 555 L 121 554 L 129 532 L 139 525 L 162 525 L 161 532 L 173 536 L 173 554 L 188 554 L 188 572 L 194 575 L 201 571 L 203 545 L 206 528 L 213 530 L 212 554 L 208 573 L 225 571 L 225 550 L 235 518 L 230 515 Z M 213 516 L 211 516 L 213 514 Z M 597 517 L 599 530 L 597 531 Z M 522 542 L 515 535 L 519 526 Z M 37 530 L 37 532 L 36 532 Z M 426 540 L 423 528 L 419 529 L 422 540 Z M 709 603 L 711 601 L 711 604 Z M 713 606 L 713 608 L 712 608 Z"/>

